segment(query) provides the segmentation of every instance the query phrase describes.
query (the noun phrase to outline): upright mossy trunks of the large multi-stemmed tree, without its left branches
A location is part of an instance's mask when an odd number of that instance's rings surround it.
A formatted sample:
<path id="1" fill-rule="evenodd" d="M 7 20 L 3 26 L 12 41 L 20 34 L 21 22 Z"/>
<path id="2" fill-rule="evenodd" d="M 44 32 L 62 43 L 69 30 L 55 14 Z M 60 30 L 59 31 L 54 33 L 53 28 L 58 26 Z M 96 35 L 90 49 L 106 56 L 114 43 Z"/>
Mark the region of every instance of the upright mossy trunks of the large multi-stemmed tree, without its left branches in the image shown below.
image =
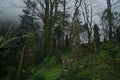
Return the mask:
<path id="1" fill-rule="evenodd" d="M 48 49 L 48 55 L 52 54 L 52 39 L 53 39 L 53 31 L 52 29 L 55 27 L 57 9 L 58 9 L 59 0 L 45 0 L 45 15 L 44 15 L 44 30 L 45 30 L 45 44 L 44 49 Z M 55 8 L 55 13 L 54 13 Z"/>

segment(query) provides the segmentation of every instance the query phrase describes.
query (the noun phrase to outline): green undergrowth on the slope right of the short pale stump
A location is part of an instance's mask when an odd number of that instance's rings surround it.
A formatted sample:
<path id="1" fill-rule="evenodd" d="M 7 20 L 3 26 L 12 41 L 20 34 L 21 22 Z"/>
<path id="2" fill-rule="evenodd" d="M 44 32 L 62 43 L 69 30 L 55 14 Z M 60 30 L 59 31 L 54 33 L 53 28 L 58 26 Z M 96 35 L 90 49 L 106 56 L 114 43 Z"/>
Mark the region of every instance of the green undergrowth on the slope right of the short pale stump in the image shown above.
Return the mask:
<path id="1" fill-rule="evenodd" d="M 110 44 L 109 44 L 110 45 Z M 112 47 L 112 45 L 110 45 Z M 110 46 L 108 48 L 110 48 Z M 61 78 L 64 77 L 65 80 L 113 80 L 118 79 L 118 75 L 120 74 L 117 71 L 113 71 L 114 69 L 119 70 L 119 61 L 120 61 L 120 53 L 119 47 L 111 48 L 108 51 L 100 50 L 98 54 L 88 53 L 84 55 L 82 59 L 80 59 L 79 64 L 75 64 L 74 66 L 78 66 L 75 69 L 72 69 L 72 73 L 63 74 Z M 116 57 L 113 58 L 110 52 L 115 52 Z M 113 64 L 115 63 L 115 64 Z M 117 66 L 114 66 L 117 65 Z M 120 66 L 119 66 L 120 67 Z M 117 73 L 112 75 L 113 73 Z M 66 75 L 66 76 L 65 76 Z M 71 77 L 70 77 L 71 76 Z M 117 76 L 117 77 L 115 77 Z M 69 79 L 70 78 L 70 79 Z"/>

